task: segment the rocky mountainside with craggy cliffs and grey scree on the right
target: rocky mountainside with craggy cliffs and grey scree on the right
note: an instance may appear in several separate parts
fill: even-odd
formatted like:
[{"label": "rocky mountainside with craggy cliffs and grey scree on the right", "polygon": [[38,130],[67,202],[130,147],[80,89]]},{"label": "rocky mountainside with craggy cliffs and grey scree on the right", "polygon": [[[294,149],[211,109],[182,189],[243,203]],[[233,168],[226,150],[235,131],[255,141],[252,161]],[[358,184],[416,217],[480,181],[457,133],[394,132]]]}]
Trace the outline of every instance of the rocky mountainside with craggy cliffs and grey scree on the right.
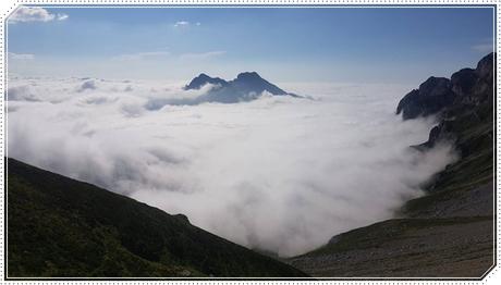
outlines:
[{"label": "rocky mountainside with craggy cliffs and grey scree on the right", "polygon": [[480,277],[487,272],[494,262],[493,63],[489,54],[451,80],[430,77],[400,102],[404,120],[440,117],[419,149],[449,140],[461,157],[430,182],[426,196],[408,201],[401,219],[334,236],[290,263],[314,276]]}]

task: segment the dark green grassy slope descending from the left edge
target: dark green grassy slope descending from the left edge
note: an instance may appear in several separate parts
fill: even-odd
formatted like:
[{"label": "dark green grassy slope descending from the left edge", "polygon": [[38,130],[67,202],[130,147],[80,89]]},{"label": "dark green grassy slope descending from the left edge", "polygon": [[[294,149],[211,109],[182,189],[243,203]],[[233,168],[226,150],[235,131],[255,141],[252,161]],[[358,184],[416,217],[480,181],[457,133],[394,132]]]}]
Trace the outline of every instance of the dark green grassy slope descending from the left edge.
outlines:
[{"label": "dark green grassy slope descending from the left edge", "polygon": [[8,276],[305,276],[166,212],[8,159]]}]

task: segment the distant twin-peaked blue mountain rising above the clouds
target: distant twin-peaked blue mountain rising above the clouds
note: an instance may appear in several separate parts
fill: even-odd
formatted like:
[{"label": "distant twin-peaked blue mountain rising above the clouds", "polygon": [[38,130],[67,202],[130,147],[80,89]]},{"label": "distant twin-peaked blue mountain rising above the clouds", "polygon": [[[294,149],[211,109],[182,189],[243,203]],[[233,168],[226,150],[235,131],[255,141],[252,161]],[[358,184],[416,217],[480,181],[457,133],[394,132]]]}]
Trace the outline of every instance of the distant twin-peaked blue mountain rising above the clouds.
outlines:
[{"label": "distant twin-peaked blue mountain rising above the clouds", "polygon": [[296,97],[295,95],[289,94],[280,89],[278,86],[264,79],[256,72],[241,73],[236,76],[235,79],[230,82],[219,77],[210,77],[203,73],[195,77],[190,84],[187,84],[184,89],[200,89],[207,84],[213,85],[213,87],[207,91],[207,94],[193,100],[192,103],[237,103],[257,99],[264,91],[269,92],[272,96],[290,95]]}]

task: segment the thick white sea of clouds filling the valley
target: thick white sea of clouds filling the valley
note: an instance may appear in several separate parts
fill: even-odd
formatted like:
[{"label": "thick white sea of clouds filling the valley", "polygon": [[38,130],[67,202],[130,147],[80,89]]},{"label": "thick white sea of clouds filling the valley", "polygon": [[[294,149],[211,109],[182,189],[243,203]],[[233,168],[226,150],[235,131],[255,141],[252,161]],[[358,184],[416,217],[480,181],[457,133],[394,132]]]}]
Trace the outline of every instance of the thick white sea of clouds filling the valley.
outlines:
[{"label": "thick white sea of clouds filling the valley", "polygon": [[447,145],[410,148],[435,122],[394,115],[407,86],[284,84],[310,98],[169,104],[212,88],[182,86],[12,76],[8,156],[284,257],[391,218],[455,159]]}]

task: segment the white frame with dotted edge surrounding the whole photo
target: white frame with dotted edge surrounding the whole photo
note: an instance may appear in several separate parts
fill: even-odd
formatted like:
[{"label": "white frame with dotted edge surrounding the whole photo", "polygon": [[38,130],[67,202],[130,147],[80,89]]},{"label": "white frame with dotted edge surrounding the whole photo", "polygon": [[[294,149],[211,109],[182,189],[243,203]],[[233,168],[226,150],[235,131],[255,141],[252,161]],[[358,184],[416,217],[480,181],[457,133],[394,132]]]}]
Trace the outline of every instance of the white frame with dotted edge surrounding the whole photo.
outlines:
[{"label": "white frame with dotted edge surrounding the whole photo", "polygon": [[[32,5],[32,7],[50,7],[50,8],[267,8],[267,7],[279,7],[279,8],[492,8],[493,12],[493,39],[494,39],[494,51],[499,54],[501,47],[499,40],[501,38],[500,23],[501,23],[501,0],[0,0],[0,92],[5,95],[8,89],[8,51],[7,51],[7,36],[8,25],[7,20],[19,7]],[[15,284],[88,284],[100,283],[100,284],[131,284],[138,285],[139,283],[148,284],[161,284],[161,282],[170,282],[171,284],[179,285],[194,285],[194,284],[228,284],[228,285],[240,285],[244,283],[254,284],[379,284],[390,285],[391,283],[398,282],[403,285],[411,284],[496,284],[501,282],[501,273],[499,272],[500,262],[500,225],[501,222],[498,216],[499,209],[501,209],[501,200],[498,197],[498,190],[501,183],[498,181],[498,176],[501,174],[500,165],[501,162],[498,159],[501,144],[500,129],[500,117],[501,113],[501,100],[498,95],[501,91],[500,83],[501,78],[499,73],[501,72],[501,65],[499,61],[496,62],[496,84],[497,84],[497,96],[496,98],[496,136],[493,137],[496,144],[496,156],[494,156],[494,250],[493,250],[493,265],[480,277],[480,278],[438,278],[438,277],[315,277],[313,278],[288,278],[288,277],[9,277],[7,276],[7,162],[0,163],[0,211],[3,213],[0,215],[0,282],[2,283],[15,283]],[[0,156],[7,158],[7,102],[4,96],[0,99]],[[499,283],[498,283],[499,284]]]}]

